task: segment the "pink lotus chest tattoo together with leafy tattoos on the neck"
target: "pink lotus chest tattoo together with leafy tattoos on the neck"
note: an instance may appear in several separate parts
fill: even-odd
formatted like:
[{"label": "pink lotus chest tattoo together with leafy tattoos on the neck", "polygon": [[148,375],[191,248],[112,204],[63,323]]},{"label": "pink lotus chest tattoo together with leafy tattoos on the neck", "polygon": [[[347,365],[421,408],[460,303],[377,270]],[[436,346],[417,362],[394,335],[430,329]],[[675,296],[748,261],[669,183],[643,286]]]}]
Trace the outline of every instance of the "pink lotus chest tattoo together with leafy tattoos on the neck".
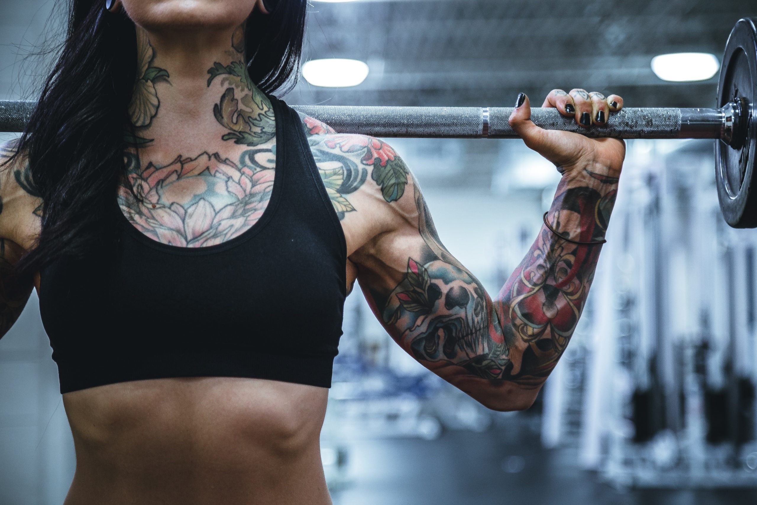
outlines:
[{"label": "pink lotus chest tattoo together with leafy tattoos on the neck", "polygon": [[[142,76],[129,114],[132,126],[146,131],[160,108],[154,83],[169,79],[169,73],[152,66],[154,50],[143,30],[138,33]],[[251,82],[242,61],[243,35],[240,27],[232,36],[232,61],[214,62],[207,71],[208,87],[216,79],[226,86],[213,107],[213,116],[228,130],[222,139],[249,148],[238,161],[201,152],[143,167],[139,149],[153,141],[127,134],[130,149],[124,154],[126,176],[119,204],[132,225],[157,242],[187,248],[217,245],[251,228],[268,205],[276,169],[276,123],[271,102]]]}]

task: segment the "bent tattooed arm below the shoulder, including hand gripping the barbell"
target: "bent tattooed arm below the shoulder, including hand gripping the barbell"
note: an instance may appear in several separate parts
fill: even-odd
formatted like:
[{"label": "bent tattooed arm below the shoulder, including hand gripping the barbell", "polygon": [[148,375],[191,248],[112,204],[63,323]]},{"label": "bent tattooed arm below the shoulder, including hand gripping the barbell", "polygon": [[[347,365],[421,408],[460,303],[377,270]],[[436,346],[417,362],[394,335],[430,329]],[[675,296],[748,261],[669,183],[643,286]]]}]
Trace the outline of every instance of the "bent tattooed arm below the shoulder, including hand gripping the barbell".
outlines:
[{"label": "bent tattooed arm below the shoulder, including hand gripping the barbell", "polygon": [[[594,119],[600,117],[597,108],[605,118],[621,108],[616,95],[586,94],[583,99],[581,92],[556,90],[544,106],[575,114],[579,121],[587,110]],[[542,226],[494,299],[442,245],[413,176],[407,177],[401,196],[378,212],[384,215],[376,220],[389,225],[350,256],[363,293],[394,340],[428,369],[494,410],[531,406],[565,351],[601,249],[599,244],[575,242],[603,238],[625,156],[622,141],[543,130],[529,117],[526,99],[510,122],[530,148],[562,173],[547,213],[559,235]],[[391,161],[402,163],[396,155]],[[385,169],[377,165],[372,170]],[[397,170],[409,174],[403,165]],[[382,178],[373,173],[372,179],[380,183]],[[386,191],[383,195],[391,199]]]}]

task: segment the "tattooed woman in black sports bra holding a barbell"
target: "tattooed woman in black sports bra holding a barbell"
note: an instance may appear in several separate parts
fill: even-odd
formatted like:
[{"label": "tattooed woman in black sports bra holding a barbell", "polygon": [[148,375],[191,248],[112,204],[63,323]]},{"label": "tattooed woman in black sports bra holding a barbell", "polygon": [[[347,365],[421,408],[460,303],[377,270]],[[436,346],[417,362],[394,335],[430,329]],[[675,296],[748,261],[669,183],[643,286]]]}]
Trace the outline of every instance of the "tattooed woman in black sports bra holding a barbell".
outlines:
[{"label": "tattooed woman in black sports bra holding a barbell", "polygon": [[[76,445],[66,503],[329,503],[319,458],[344,297],[495,410],[565,350],[621,141],[510,122],[562,173],[497,298],[441,245],[397,154],[269,94],[304,0],[73,0],[64,51],[0,197],[3,332],[32,287]],[[621,98],[555,90],[590,127]],[[547,226],[548,225],[548,226]]]}]

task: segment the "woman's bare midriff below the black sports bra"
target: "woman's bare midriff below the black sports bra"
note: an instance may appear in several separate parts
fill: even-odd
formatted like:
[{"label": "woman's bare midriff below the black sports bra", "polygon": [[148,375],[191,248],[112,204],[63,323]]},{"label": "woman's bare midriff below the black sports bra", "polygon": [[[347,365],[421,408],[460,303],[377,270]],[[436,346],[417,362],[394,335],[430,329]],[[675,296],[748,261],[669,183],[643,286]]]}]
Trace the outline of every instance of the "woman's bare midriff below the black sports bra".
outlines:
[{"label": "woman's bare midriff below the black sports bra", "polygon": [[331,503],[319,447],[327,397],[227,377],[66,393],[76,473],[64,505]]}]

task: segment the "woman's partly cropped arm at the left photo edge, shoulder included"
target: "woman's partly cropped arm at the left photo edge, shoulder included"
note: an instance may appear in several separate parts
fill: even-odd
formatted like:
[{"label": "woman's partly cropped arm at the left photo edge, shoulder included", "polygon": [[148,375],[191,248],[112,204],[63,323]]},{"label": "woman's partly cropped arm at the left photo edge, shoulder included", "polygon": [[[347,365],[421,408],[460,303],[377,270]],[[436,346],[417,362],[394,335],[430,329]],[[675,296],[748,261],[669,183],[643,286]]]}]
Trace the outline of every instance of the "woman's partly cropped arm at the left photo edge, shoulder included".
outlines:
[{"label": "woman's partly cropped arm at the left photo edge, shoulder included", "polygon": [[0,145],[0,338],[16,322],[33,289],[32,279],[13,275],[13,265],[24,251],[7,237],[17,234],[16,214],[41,209],[28,164],[20,157],[11,159],[13,154],[12,143]]}]

